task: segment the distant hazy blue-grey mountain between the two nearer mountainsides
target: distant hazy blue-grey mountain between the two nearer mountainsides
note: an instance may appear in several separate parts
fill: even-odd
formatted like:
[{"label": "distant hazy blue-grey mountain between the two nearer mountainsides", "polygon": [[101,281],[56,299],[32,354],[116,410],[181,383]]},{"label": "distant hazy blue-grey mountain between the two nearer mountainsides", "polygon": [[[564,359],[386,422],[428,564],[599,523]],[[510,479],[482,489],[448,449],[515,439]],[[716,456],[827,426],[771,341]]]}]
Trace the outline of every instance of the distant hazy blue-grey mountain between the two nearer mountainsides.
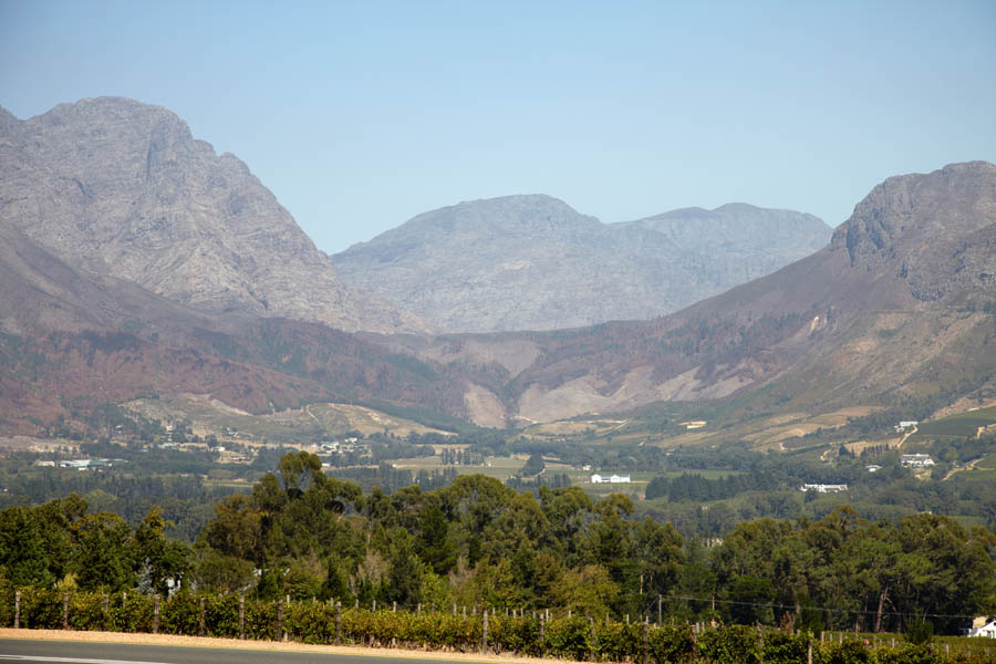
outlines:
[{"label": "distant hazy blue-grey mountain between the two nearer mountainsides", "polygon": [[733,204],[601,224],[549,196],[425,212],[333,257],[342,277],[453,331],[650,319],[823,247],[812,215]]}]

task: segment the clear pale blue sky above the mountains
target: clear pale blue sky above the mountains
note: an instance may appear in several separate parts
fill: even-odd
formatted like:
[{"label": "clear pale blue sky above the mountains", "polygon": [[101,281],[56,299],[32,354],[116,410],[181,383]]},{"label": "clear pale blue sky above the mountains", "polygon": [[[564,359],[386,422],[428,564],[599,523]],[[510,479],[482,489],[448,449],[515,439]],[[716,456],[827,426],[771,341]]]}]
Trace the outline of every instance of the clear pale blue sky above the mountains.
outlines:
[{"label": "clear pale blue sky above the mountains", "polygon": [[165,106],[329,253],[461,200],[844,221],[996,162],[996,2],[0,0],[0,105]]}]

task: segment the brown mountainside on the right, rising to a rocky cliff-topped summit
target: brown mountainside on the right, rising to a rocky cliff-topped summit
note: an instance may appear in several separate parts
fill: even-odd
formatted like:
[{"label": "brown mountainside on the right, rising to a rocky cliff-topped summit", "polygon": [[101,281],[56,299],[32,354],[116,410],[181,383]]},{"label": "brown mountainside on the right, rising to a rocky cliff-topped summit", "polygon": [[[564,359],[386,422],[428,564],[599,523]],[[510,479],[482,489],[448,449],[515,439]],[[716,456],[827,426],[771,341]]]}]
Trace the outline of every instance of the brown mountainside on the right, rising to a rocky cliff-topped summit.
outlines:
[{"label": "brown mountainside on the right, rising to a rocky cliff-topped summit", "polygon": [[417,352],[474,365],[520,344],[499,361],[522,422],[761,386],[771,403],[812,408],[957,393],[996,375],[994,242],[996,166],[955,164],[885,180],[830,246],[678,313]]}]

